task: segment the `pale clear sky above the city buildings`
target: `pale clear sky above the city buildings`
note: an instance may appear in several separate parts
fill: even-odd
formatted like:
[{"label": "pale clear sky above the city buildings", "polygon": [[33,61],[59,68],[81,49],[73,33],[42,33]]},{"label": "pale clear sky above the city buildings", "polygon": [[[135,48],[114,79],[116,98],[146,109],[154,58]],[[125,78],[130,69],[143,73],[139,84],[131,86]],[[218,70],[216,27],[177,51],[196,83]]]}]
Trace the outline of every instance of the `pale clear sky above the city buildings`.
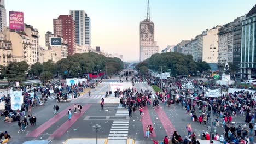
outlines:
[{"label": "pale clear sky above the city buildings", "polygon": [[[150,19],[160,51],[167,45],[191,39],[205,29],[232,22],[245,15],[255,0],[150,0]],[[5,0],[9,11],[24,12],[24,22],[39,31],[45,46],[46,31],[53,32],[53,19],[69,10],[85,10],[91,19],[91,45],[123,55],[124,61],[139,60],[139,22],[147,15],[147,0]]]}]

